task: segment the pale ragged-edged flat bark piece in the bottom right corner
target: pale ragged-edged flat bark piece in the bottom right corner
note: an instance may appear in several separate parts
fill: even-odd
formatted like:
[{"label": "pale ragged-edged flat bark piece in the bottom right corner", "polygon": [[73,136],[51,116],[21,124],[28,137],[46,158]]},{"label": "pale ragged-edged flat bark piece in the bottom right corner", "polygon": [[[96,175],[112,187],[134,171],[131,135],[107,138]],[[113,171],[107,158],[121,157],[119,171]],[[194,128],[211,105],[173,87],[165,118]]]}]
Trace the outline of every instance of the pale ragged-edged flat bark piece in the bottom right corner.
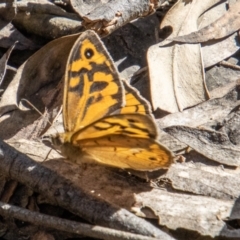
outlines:
[{"label": "pale ragged-edged flat bark piece in the bottom right corner", "polygon": [[221,235],[224,220],[231,216],[234,204],[239,207],[234,200],[170,193],[160,189],[139,193],[136,204],[135,211],[151,209],[159,218],[159,224],[170,229],[184,228],[211,237]]}]

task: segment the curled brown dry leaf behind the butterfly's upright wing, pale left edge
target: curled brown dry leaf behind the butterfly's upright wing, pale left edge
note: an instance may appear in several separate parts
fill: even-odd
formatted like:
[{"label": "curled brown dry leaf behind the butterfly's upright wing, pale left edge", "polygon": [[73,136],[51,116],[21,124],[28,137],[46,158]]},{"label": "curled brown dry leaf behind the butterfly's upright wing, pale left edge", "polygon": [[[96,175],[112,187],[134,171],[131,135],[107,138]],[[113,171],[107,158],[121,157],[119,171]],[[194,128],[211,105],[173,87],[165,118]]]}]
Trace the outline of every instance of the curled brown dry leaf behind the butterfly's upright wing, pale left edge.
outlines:
[{"label": "curled brown dry leaf behind the butterfly's upright wing, pale left edge", "polygon": [[[16,109],[22,98],[26,98],[35,107],[43,110],[46,106],[43,104],[43,98],[52,90],[51,84],[55,84],[56,87],[62,79],[68,53],[78,36],[62,37],[48,43],[19,67],[13,81],[3,93],[0,116]],[[41,93],[39,89],[42,90]]]}]

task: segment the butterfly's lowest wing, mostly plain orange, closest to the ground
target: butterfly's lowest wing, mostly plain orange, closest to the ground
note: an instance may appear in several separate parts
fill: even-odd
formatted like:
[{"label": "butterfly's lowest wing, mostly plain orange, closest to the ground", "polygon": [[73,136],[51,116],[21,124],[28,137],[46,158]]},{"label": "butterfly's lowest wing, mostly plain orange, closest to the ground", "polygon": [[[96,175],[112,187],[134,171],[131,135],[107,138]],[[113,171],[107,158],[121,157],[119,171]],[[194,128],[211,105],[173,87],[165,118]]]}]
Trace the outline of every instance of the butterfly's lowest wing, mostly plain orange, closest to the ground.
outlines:
[{"label": "butterfly's lowest wing, mostly plain orange, closest to the ground", "polygon": [[112,167],[152,171],[171,164],[171,152],[154,139],[109,135],[79,144],[83,152]]}]

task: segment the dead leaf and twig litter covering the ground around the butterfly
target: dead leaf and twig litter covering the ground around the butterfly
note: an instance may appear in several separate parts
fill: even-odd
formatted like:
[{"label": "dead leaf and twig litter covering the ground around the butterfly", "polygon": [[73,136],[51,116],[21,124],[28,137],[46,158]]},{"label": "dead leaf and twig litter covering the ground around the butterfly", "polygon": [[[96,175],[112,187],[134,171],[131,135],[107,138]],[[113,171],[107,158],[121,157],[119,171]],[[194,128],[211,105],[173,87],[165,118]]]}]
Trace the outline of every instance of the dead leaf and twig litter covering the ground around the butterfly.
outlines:
[{"label": "dead leaf and twig litter covering the ground around the butterfly", "polygon": [[[237,0],[0,3],[1,238],[239,239],[239,9]],[[168,171],[78,166],[41,142],[63,131],[65,65],[86,29],[151,102],[159,141],[180,156]]]}]

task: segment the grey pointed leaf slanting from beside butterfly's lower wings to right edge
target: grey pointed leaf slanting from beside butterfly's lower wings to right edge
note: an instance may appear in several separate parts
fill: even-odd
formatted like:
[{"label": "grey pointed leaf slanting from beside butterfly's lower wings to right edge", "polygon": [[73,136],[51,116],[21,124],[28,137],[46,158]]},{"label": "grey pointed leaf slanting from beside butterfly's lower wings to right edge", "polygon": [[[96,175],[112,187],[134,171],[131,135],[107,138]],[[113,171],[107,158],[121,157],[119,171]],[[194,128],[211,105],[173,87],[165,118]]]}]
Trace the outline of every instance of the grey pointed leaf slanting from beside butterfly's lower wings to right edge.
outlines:
[{"label": "grey pointed leaf slanting from beside butterfly's lower wings to right edge", "polygon": [[164,131],[213,161],[240,166],[240,147],[233,145],[224,133],[186,126],[167,127]]}]

